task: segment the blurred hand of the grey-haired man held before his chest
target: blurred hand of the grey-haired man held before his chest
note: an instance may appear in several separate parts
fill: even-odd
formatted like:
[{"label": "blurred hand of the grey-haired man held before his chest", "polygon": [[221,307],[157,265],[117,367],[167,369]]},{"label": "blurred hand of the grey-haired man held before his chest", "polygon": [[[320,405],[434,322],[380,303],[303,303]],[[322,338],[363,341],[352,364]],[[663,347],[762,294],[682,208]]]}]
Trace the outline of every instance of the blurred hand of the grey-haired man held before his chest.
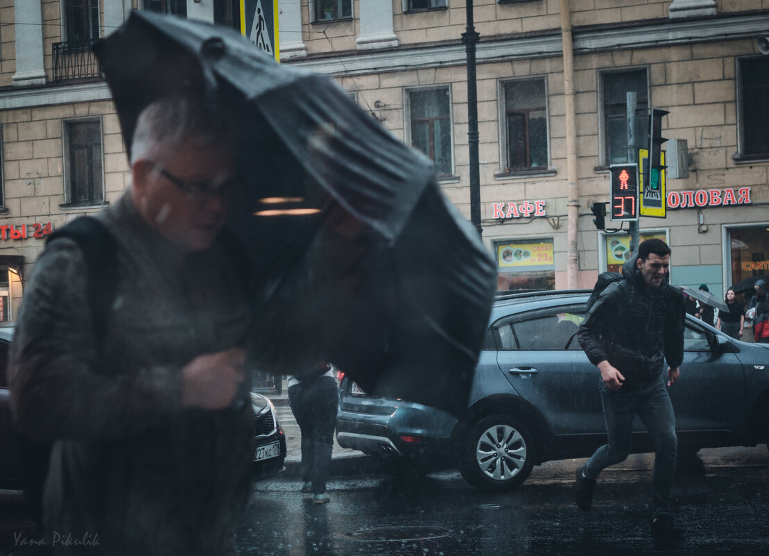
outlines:
[{"label": "blurred hand of the grey-haired man held before his chest", "polygon": [[228,407],[245,378],[245,351],[198,355],[181,369],[181,405],[218,410]]}]

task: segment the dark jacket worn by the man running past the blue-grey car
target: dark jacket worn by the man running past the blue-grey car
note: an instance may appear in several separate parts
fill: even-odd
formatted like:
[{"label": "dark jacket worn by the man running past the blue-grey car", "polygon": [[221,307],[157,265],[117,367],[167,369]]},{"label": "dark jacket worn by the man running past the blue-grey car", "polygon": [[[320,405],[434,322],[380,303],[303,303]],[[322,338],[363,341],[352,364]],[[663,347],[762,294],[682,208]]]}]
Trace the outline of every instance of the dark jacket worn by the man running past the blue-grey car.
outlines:
[{"label": "dark jacket worn by the man running past the blue-grey car", "polygon": [[578,335],[591,363],[608,360],[626,385],[654,380],[664,360],[673,368],[684,360],[684,296],[667,278],[650,293],[636,260],[622,266],[624,280],[601,292]]}]

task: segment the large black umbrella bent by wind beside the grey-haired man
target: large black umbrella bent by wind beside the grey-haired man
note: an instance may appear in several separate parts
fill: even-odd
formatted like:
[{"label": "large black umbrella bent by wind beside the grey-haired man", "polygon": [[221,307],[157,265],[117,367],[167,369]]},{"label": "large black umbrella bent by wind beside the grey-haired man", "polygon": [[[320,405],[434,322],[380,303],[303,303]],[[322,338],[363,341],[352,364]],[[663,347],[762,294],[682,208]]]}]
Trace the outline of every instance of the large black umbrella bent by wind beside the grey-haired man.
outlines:
[{"label": "large black umbrella bent by wind beside the grey-haired man", "polygon": [[95,52],[129,151],[155,99],[238,113],[246,179],[228,223],[258,269],[261,369],[330,360],[371,394],[465,409],[494,264],[431,161],[333,79],[278,65],[228,28],[131,12]]}]

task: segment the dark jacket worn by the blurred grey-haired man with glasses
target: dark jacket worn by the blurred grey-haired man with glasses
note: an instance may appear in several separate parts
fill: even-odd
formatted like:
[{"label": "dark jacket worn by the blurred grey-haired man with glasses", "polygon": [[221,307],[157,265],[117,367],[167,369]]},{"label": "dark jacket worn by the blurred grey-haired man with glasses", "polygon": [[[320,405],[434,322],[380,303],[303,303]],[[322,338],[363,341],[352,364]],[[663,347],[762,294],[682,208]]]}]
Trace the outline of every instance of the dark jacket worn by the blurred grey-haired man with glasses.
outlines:
[{"label": "dark jacket worn by the blurred grey-haired man with glasses", "polygon": [[55,553],[234,554],[251,494],[253,412],[182,407],[181,368],[239,345],[251,322],[245,288],[221,247],[180,253],[130,193],[98,217],[118,242],[120,276],[102,357],[85,260],[68,238],[35,265],[11,350],[18,427],[55,440],[48,533],[98,534],[98,545],[60,543]]}]

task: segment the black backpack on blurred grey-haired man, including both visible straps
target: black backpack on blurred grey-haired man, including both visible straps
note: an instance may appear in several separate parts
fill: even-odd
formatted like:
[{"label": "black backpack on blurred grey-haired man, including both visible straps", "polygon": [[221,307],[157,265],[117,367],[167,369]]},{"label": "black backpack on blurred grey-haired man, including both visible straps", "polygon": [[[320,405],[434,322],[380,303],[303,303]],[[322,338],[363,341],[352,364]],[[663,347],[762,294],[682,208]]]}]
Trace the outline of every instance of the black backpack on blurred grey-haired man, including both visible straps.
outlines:
[{"label": "black backpack on blurred grey-haired man, including both visible straps", "polygon": [[[92,216],[72,220],[48,236],[45,244],[60,237],[74,240],[85,258],[88,310],[94,323],[96,349],[101,352],[108,330],[109,310],[118,290],[118,244],[104,223]],[[221,229],[217,243],[248,286],[251,265],[235,233],[228,228]],[[21,434],[17,435],[17,442],[25,504],[30,517],[42,524],[43,490],[53,443],[30,440]]]}]

